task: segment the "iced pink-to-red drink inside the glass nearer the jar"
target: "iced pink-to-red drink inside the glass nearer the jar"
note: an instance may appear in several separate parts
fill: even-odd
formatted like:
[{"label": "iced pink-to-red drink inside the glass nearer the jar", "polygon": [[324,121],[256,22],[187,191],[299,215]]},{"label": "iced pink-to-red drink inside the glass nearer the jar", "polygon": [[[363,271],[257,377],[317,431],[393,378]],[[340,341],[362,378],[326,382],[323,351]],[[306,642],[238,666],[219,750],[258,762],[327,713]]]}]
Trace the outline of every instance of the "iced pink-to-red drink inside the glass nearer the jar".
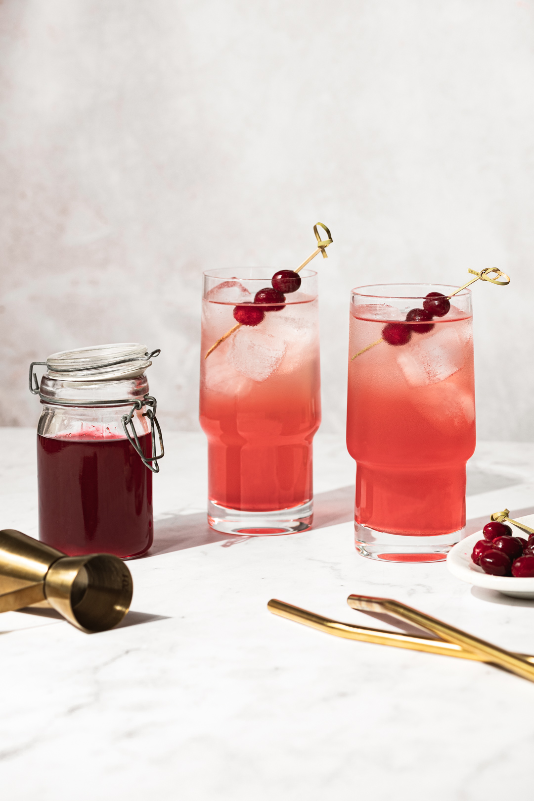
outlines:
[{"label": "iced pink-to-red drink inside the glass nearer the jar", "polygon": [[[243,338],[259,337],[258,351],[247,366],[241,361],[241,355],[247,358],[246,349],[233,350],[238,337],[202,360],[200,425],[208,441],[208,494],[226,509],[270,512],[313,497],[312,440],[321,419],[316,313],[316,301],[298,304],[271,312],[257,331],[238,332]],[[204,353],[235,320],[231,305],[207,301],[203,315]],[[294,331],[296,315],[300,327]],[[263,330],[269,347],[285,351],[268,377],[256,375],[253,380],[247,370],[256,360],[261,364]]]}]

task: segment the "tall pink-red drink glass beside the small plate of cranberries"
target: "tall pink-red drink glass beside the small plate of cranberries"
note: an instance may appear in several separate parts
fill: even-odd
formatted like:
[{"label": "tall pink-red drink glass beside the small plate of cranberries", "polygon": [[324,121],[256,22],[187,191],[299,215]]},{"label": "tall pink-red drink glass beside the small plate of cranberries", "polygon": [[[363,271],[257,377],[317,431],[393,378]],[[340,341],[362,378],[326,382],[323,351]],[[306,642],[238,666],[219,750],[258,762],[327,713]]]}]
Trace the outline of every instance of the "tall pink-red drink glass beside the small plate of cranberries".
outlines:
[{"label": "tall pink-red drink glass beside the small plate of cranberries", "polygon": [[355,545],[363,556],[440,561],[462,537],[465,465],[475,450],[471,292],[452,297],[432,322],[406,321],[429,292],[454,291],[352,290],[347,449],[357,465]]}]

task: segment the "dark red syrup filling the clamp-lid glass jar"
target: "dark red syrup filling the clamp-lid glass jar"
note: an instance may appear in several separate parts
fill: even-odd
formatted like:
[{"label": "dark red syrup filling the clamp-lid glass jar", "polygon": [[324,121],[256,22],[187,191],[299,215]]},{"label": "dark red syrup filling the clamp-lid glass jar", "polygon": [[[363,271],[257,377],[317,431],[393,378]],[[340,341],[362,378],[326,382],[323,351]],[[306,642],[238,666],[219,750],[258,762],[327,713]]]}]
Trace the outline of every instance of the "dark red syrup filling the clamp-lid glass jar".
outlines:
[{"label": "dark red syrup filling the clamp-lid glass jar", "polygon": [[[139,437],[151,456],[151,436]],[[39,539],[80,556],[145,553],[153,541],[152,473],[125,438],[37,437]]]}]

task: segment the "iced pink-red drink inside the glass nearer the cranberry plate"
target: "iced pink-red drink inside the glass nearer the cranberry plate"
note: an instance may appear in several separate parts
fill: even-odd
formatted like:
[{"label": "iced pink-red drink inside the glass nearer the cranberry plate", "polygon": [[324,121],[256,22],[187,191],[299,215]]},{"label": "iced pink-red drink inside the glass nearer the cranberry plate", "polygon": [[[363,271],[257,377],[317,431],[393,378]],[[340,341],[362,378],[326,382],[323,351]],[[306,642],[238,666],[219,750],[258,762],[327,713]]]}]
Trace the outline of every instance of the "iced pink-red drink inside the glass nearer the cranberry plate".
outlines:
[{"label": "iced pink-red drink inside the glass nearer the cranberry plate", "polygon": [[476,440],[472,320],[452,308],[432,332],[414,332],[399,347],[381,342],[351,360],[379,339],[384,322],[351,309],[347,449],[357,462],[355,520],[415,537],[458,531]]}]

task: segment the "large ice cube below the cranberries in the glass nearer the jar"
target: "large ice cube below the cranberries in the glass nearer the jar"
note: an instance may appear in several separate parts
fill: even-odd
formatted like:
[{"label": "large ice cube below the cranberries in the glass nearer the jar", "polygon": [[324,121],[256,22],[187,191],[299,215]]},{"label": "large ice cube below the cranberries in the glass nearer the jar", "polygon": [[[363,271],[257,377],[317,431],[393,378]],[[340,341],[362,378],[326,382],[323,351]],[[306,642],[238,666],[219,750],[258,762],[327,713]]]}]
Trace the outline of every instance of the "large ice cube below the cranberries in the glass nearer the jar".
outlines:
[{"label": "large ice cube below the cranberries in the glass nearer the jar", "polygon": [[285,341],[269,333],[263,324],[243,325],[231,337],[227,360],[243,376],[264,381],[279,366],[285,352]]}]

